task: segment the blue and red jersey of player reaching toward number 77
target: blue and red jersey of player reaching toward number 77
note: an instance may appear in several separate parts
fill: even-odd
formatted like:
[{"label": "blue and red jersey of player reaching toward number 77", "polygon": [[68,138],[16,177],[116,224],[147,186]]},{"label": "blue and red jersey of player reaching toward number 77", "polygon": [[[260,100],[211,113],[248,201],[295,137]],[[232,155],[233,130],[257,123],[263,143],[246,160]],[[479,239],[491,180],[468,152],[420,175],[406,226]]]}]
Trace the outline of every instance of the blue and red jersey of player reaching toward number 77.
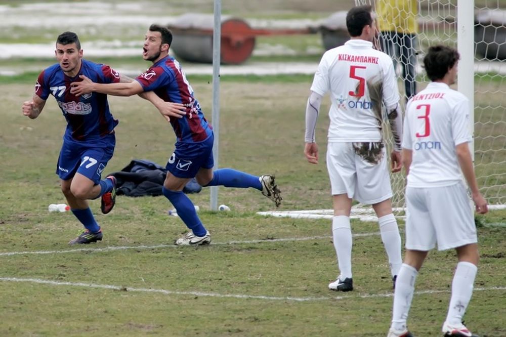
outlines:
[{"label": "blue and red jersey of player reaching toward number 77", "polygon": [[166,56],[153,64],[136,80],[144,91],[153,91],[165,102],[182,103],[186,106],[183,118],[171,118],[171,125],[179,142],[199,143],[213,133],[193,96],[193,89],[179,62]]}]

